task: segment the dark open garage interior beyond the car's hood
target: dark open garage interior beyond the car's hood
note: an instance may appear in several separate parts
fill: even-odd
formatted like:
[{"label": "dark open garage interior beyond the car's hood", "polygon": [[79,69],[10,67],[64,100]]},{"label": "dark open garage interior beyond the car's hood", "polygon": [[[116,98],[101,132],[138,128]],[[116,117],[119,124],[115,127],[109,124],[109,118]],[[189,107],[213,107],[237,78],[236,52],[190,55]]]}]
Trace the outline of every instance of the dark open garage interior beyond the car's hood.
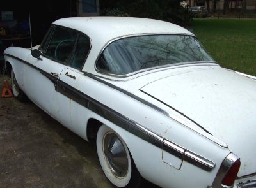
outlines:
[{"label": "dark open garage interior beyond the car's hood", "polygon": [[0,74],[5,48],[29,48],[31,39],[33,46],[40,44],[51,23],[59,18],[93,15],[99,15],[99,0],[0,1]]}]

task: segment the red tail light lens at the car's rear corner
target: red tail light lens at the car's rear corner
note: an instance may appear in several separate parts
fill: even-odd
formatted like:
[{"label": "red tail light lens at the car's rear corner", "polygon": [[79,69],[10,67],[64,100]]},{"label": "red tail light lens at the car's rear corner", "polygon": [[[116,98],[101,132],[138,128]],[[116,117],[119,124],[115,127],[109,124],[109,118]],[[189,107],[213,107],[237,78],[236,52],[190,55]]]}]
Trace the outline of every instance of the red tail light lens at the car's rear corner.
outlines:
[{"label": "red tail light lens at the car's rear corner", "polygon": [[240,160],[238,159],[228,170],[227,174],[222,180],[223,185],[232,186],[234,184],[234,181],[236,179],[237,173],[240,168]]}]

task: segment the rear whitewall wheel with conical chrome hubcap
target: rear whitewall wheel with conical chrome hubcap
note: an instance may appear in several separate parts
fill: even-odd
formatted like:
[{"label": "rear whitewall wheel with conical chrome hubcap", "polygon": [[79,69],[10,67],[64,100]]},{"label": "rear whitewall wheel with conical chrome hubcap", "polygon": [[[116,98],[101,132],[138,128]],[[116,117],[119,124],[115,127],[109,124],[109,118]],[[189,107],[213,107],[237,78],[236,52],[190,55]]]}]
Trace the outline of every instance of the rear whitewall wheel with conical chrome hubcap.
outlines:
[{"label": "rear whitewall wheel with conical chrome hubcap", "polygon": [[97,133],[97,153],[102,170],[115,187],[139,187],[141,175],[124,140],[106,125]]}]

